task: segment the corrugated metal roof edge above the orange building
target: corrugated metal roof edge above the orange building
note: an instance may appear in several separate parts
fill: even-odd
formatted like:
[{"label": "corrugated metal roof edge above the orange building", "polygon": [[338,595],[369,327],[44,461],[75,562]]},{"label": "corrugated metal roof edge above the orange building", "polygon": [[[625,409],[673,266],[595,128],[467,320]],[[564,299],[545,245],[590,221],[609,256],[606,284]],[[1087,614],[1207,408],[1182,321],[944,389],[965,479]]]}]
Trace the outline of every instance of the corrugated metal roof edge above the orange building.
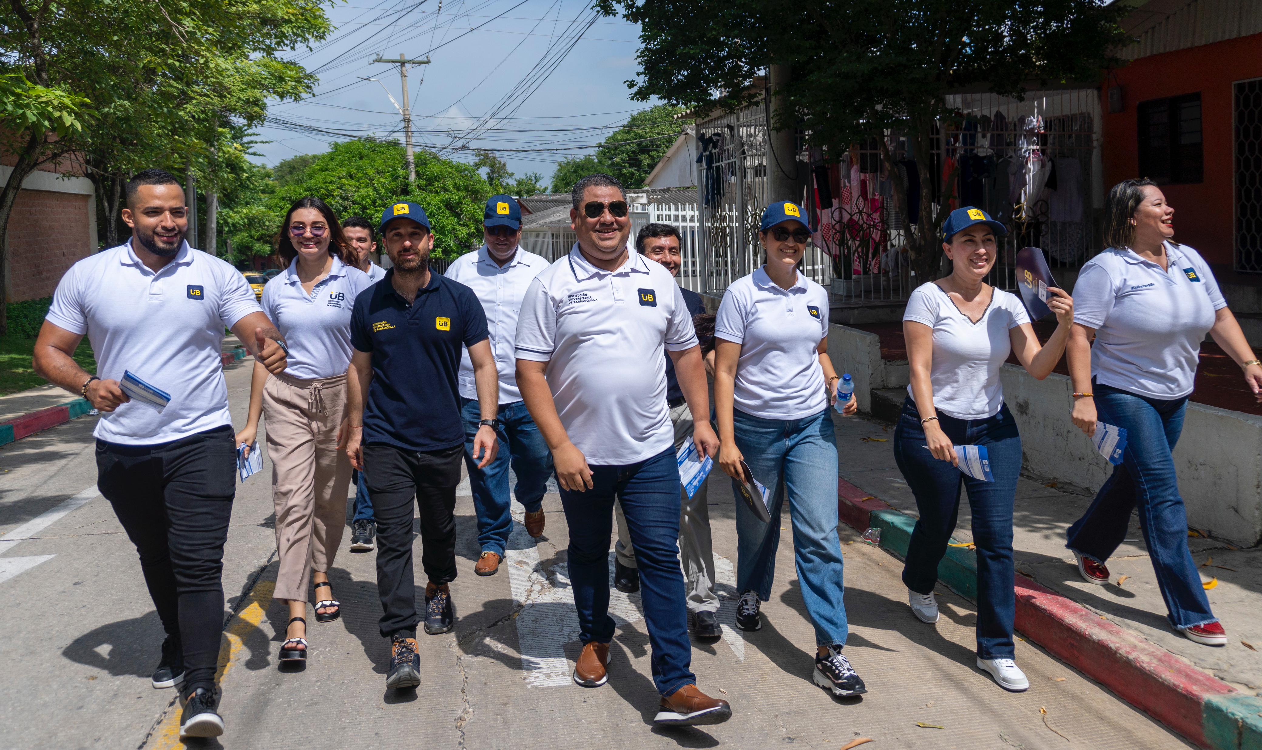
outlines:
[{"label": "corrugated metal roof edge above the orange building", "polygon": [[1123,59],[1188,49],[1227,39],[1262,34],[1258,0],[1150,0],[1123,21],[1138,42],[1121,52]]}]

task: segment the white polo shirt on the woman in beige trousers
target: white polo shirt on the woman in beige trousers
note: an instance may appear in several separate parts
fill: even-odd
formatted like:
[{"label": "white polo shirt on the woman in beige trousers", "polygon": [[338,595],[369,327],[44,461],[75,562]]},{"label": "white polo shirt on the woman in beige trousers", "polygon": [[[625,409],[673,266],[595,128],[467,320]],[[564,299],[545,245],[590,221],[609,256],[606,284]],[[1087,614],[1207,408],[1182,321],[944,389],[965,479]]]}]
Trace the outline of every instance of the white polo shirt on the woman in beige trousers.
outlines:
[{"label": "white polo shirt on the woman in beige trousers", "polygon": [[262,312],[285,337],[288,375],[303,380],[346,375],[351,364],[351,309],[360,292],[371,285],[369,274],[337,258],[309,295],[298,278],[297,258],[268,282]]}]

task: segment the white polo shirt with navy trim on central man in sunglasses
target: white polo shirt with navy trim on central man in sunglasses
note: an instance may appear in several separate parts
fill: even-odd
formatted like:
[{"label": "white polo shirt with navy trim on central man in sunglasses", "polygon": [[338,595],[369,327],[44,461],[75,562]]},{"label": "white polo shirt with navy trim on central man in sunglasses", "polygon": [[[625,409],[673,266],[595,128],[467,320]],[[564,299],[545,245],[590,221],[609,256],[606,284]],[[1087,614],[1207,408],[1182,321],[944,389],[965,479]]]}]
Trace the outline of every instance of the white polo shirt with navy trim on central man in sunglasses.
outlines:
[{"label": "white polo shirt with navy trim on central man in sunglasses", "polygon": [[579,253],[535,277],[517,321],[517,359],[548,362],[569,439],[592,466],[626,466],[675,444],[665,350],[697,346],[679,285],[660,263],[628,253],[616,271]]}]

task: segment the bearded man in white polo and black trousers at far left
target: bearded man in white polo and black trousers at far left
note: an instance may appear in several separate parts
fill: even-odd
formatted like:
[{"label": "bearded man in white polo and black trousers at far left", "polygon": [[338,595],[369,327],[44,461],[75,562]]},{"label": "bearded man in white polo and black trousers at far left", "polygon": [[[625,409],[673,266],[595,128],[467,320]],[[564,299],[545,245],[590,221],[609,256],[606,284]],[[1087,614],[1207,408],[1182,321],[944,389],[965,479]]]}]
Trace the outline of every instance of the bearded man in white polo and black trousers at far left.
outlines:
[{"label": "bearded man in white polo and black trousers at far left", "polygon": [[[245,277],[184,241],[184,191],[173,174],[133,177],[122,220],[131,239],[80,260],[57,285],[34,365],[103,413],[95,431],[97,487],[140,553],[167,631],[153,686],[183,682],[180,736],[213,737],[223,732],[215,668],[236,495],[223,328],[271,372],[285,369],[286,356]],[[100,378],[71,357],[85,335]],[[125,372],[169,402],[159,408],[130,398],[120,385]]]}]

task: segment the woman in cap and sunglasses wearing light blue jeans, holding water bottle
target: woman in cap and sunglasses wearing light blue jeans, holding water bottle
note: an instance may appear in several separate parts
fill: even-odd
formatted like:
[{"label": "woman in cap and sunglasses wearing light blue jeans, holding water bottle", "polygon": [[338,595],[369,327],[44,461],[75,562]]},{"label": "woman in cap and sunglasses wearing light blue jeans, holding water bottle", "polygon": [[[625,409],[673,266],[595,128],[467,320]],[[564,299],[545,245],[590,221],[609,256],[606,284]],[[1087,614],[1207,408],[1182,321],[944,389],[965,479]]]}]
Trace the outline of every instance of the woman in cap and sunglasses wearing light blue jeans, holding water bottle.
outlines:
[{"label": "woman in cap and sunglasses wearing light blue jeans, holding water bottle", "polygon": [[[798,580],[815,626],[813,679],[835,696],[857,696],[867,688],[842,655],[848,625],[832,414],[839,376],[828,357],[828,292],[798,271],[810,239],[800,207],[767,206],[758,239],[766,263],[727,288],[714,319],[719,466],[737,496],[746,467],[771,492],[771,523],[736,504],[736,622],[762,626],[758,606],[771,596],[787,496]],[[843,413],[856,409],[851,399]]]}]

